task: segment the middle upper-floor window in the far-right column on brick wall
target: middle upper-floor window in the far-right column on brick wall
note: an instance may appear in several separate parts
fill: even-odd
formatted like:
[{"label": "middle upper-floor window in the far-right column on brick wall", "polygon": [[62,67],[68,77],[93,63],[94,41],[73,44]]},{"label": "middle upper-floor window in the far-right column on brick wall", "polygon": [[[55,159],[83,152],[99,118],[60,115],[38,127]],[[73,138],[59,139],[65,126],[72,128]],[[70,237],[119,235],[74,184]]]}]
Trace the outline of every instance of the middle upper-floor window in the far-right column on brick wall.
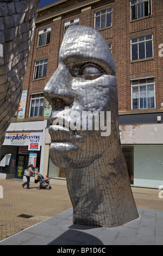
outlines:
[{"label": "middle upper-floor window in the far-right column on brick wall", "polygon": [[153,35],[131,39],[131,60],[153,57]]}]

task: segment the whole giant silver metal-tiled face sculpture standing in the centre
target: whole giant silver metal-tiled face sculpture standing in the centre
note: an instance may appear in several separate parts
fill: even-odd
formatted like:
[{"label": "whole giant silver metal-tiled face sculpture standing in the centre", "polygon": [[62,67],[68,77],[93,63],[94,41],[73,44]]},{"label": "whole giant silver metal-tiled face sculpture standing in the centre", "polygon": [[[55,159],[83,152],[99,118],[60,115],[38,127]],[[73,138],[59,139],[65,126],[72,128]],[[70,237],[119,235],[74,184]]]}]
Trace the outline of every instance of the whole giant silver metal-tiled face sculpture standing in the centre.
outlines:
[{"label": "whole giant silver metal-tiled face sculpture standing in the centre", "polygon": [[[95,29],[68,28],[45,96],[53,107],[49,153],[55,165],[66,168],[73,222],[115,227],[137,218],[118,132],[114,60]],[[83,113],[95,112],[89,129]],[[109,112],[111,132],[103,133],[102,127],[109,129]]]}]

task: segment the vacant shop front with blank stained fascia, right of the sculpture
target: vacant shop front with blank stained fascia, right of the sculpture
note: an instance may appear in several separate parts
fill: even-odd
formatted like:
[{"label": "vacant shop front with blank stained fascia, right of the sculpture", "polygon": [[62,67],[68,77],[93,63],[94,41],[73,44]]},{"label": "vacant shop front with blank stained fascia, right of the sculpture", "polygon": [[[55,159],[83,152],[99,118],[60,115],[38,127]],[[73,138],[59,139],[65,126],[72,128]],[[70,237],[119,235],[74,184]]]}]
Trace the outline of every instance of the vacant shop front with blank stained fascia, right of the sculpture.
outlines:
[{"label": "vacant shop front with blank stained fascia, right of the sculpture", "polygon": [[133,187],[163,185],[163,124],[121,125],[121,144]]}]

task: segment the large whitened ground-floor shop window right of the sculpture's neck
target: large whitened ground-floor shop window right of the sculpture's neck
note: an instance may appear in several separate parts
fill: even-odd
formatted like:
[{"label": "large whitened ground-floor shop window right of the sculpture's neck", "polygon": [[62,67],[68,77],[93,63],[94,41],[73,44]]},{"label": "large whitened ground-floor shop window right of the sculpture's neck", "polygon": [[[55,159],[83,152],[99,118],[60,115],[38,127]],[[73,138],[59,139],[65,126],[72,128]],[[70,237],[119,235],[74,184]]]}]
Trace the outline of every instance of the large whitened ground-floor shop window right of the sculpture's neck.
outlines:
[{"label": "large whitened ground-floor shop window right of the sculpture's neck", "polygon": [[122,145],[122,150],[133,186],[158,188],[163,184],[163,145]]}]

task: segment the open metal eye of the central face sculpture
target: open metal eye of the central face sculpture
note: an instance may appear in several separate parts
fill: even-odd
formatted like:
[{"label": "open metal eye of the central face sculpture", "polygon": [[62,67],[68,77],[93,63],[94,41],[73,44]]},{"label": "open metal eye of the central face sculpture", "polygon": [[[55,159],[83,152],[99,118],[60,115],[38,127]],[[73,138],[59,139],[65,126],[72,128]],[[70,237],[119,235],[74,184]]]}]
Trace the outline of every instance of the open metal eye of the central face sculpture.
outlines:
[{"label": "open metal eye of the central face sculpture", "polygon": [[94,80],[99,76],[102,76],[104,71],[93,64],[86,64],[82,67],[82,69],[80,69],[79,74],[86,80]]}]

